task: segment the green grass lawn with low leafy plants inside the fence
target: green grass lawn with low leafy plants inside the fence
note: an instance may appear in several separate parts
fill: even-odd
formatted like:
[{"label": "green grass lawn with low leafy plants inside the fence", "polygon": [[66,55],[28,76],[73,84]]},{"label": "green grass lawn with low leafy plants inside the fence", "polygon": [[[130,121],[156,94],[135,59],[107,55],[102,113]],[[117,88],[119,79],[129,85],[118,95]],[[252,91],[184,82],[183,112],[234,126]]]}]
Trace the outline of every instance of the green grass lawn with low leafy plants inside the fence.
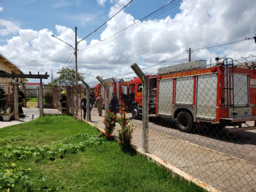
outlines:
[{"label": "green grass lawn with low leafy plants inside the fence", "polygon": [[97,135],[71,116],[40,116],[0,129],[0,191],[205,191]]}]

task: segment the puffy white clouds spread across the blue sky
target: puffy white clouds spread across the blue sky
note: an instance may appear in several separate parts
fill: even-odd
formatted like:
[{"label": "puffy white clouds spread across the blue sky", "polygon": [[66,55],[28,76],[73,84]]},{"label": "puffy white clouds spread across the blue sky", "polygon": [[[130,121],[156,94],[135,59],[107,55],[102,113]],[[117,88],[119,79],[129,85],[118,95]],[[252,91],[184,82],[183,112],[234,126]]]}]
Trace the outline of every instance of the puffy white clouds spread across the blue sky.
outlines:
[{"label": "puffy white clouds spread across the blue sky", "polygon": [[[98,0],[97,2],[104,5],[105,0]],[[117,4],[111,7],[109,11],[109,17],[118,12],[129,0],[116,2]],[[185,1],[180,6],[181,12],[175,17],[154,19],[147,23],[144,21],[140,23],[143,24],[140,27],[90,52],[84,52],[83,49],[95,45],[99,40],[81,41],[78,44],[78,71],[86,73],[86,82],[97,81],[95,78],[97,75],[111,77],[130,73],[125,77],[135,76],[130,68],[130,65],[134,62],[142,67],[147,67],[184,52],[190,47],[193,49],[254,36],[256,23],[251,15],[254,15],[255,7],[255,0],[246,2],[240,0]],[[86,16],[84,17],[86,18]],[[0,24],[3,21],[0,20]],[[109,38],[136,21],[124,9],[107,23],[106,28],[100,34],[100,40]],[[5,23],[7,22],[9,21],[5,21]],[[9,26],[11,24],[9,22]],[[7,24],[5,26],[7,27]],[[6,28],[6,30],[11,28]],[[18,27],[8,33],[0,30],[0,34],[15,33],[18,30]],[[75,32],[73,29],[56,25],[56,31],[58,38],[74,47]],[[14,64],[17,64],[24,73],[40,71],[41,74],[44,74],[47,71],[50,74],[50,70],[52,70],[53,74],[56,74],[56,71],[62,66],[74,66],[73,48],[50,36],[51,34],[52,31],[48,29],[40,31],[20,29],[19,35],[7,40],[7,44],[0,47],[0,53]],[[226,52],[254,50],[255,53],[255,49],[255,43],[248,41],[230,46]],[[194,52],[192,59],[197,57],[211,59],[216,56],[216,51]],[[218,51],[223,51],[223,49]],[[217,55],[219,54],[218,52]],[[70,58],[69,55],[71,55]],[[241,55],[236,53],[232,56],[240,57]],[[187,58],[187,55],[185,55],[185,57],[172,62],[178,64],[186,61]],[[159,66],[172,64],[172,62],[156,65],[145,70],[145,72],[156,72]],[[50,81],[50,78],[48,81]]]}]

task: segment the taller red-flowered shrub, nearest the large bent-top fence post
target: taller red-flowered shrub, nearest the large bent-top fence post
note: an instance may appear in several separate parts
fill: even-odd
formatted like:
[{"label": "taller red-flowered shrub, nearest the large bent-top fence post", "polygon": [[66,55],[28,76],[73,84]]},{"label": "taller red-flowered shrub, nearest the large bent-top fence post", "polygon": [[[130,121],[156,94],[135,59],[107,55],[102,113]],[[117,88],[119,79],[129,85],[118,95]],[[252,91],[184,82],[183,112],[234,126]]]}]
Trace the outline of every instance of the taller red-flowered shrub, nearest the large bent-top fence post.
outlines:
[{"label": "taller red-flowered shrub, nearest the large bent-top fence post", "polygon": [[127,112],[125,111],[125,108],[120,106],[119,113],[121,117],[119,117],[117,121],[120,124],[121,129],[118,130],[119,132],[118,143],[124,152],[130,152],[130,150],[132,149],[131,147],[131,140],[133,139],[132,134],[133,134],[134,127],[136,126],[134,126],[133,123],[128,125],[130,120],[126,117]]}]

